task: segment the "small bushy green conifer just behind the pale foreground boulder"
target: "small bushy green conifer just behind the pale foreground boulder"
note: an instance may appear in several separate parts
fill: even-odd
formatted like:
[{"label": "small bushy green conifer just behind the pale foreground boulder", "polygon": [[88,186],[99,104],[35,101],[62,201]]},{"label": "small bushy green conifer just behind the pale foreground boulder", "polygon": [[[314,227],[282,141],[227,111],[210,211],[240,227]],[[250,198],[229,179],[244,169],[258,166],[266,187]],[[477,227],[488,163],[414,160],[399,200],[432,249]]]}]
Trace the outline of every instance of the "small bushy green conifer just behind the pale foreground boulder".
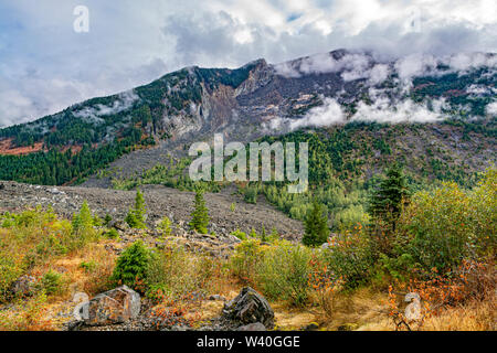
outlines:
[{"label": "small bushy green conifer just behind the pale foreground boulder", "polygon": [[141,240],[134,243],[117,258],[112,279],[142,291],[138,286],[145,280],[151,260],[150,250]]}]

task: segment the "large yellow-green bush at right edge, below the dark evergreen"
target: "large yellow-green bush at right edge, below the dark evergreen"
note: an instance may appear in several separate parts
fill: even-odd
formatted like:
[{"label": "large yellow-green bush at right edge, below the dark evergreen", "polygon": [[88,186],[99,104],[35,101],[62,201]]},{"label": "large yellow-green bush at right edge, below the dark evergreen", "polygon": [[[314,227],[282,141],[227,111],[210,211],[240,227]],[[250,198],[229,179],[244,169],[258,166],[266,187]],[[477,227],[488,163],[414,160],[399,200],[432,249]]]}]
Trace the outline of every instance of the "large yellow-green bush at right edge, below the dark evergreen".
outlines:
[{"label": "large yellow-green bush at right edge, below the dark evergreen", "polygon": [[414,194],[399,218],[394,256],[411,256],[425,272],[450,271],[463,259],[494,256],[496,185],[496,170],[489,169],[473,191],[446,182]]}]

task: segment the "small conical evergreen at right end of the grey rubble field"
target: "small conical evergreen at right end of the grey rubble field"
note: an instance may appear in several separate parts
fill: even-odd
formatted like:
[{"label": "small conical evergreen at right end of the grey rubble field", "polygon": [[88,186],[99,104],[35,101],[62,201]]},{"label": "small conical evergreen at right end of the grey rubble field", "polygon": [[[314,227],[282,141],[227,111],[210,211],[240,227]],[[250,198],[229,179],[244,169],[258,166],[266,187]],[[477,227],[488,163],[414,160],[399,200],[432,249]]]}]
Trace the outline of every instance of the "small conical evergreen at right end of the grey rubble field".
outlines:
[{"label": "small conical evergreen at right end of the grey rubble field", "polygon": [[328,240],[328,215],[325,207],[313,201],[313,207],[304,222],[305,234],[302,243],[307,246],[319,246]]}]

